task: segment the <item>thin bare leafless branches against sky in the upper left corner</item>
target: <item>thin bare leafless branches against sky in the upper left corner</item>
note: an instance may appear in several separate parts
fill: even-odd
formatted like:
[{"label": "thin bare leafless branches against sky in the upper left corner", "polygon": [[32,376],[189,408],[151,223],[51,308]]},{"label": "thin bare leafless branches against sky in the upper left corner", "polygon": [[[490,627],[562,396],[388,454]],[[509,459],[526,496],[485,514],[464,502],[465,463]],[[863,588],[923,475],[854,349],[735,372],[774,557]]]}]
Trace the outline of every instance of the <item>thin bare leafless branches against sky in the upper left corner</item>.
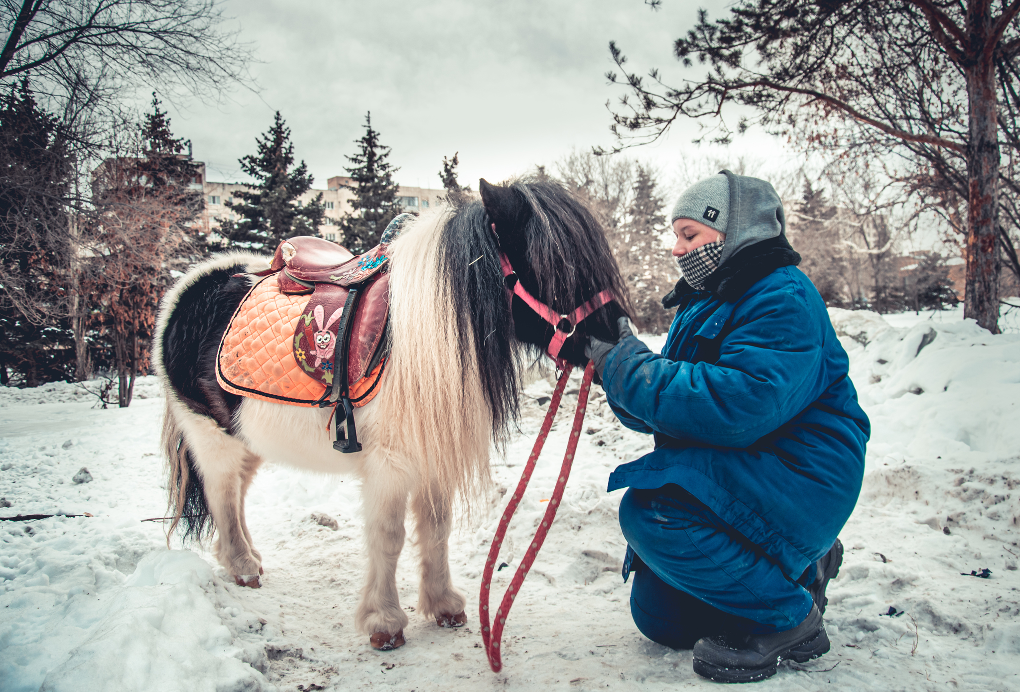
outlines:
[{"label": "thin bare leafless branches against sky in the upper left corner", "polygon": [[215,0],[0,0],[0,84],[31,74],[72,108],[112,105],[139,86],[214,96],[250,59]]}]

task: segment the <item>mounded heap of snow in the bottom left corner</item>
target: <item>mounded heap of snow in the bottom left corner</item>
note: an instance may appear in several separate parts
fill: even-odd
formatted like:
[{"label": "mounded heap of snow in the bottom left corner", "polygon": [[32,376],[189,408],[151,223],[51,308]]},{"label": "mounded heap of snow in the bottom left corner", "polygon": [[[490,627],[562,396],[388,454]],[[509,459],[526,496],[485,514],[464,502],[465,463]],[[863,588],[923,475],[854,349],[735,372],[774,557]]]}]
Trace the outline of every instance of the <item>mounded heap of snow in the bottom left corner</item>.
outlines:
[{"label": "mounded heap of snow in the bottom left corner", "polygon": [[[18,592],[8,606],[29,613],[5,632],[16,642],[5,651],[5,689],[271,689],[255,670],[268,667],[264,643],[244,636],[261,623],[217,587],[200,556],[148,545],[124,579],[113,566],[67,554],[60,543],[70,538],[47,539],[48,528],[32,550],[35,563],[20,561],[7,587]],[[37,671],[45,673],[41,687]]]}]

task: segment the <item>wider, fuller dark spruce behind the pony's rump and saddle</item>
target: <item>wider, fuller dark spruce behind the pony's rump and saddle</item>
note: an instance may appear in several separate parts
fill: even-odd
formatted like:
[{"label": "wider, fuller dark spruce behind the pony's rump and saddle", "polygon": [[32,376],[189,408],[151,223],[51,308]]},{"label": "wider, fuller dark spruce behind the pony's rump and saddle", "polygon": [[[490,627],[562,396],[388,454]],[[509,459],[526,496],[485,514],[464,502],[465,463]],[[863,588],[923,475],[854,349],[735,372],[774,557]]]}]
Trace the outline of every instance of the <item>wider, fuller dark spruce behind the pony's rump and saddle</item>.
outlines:
[{"label": "wider, fuller dark spruce behind the pony's rump and saddle", "polygon": [[218,219],[224,245],[272,251],[294,235],[318,235],[318,227],[325,216],[322,194],[304,206],[298,200],[311,190],[314,178],[304,161],[292,168],[294,144],[291,143],[291,129],[279,111],[269,130],[255,138],[255,143],[257,153],[239,162],[241,170],[255,178],[257,184],[235,193],[240,202],[224,203],[240,217],[237,220]]}]

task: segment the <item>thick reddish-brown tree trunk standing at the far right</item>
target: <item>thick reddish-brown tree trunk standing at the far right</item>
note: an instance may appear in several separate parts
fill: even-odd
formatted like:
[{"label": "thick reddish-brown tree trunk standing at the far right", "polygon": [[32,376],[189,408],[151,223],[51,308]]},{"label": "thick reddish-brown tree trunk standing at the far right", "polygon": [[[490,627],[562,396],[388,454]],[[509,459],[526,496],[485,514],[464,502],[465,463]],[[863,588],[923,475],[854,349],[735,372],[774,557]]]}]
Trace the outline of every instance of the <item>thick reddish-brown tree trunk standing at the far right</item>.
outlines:
[{"label": "thick reddish-brown tree trunk standing at the far right", "polygon": [[991,36],[991,7],[987,0],[969,3],[967,29],[974,63],[966,68],[969,112],[967,144],[967,288],[964,317],[999,333],[999,124],[996,72],[985,43]]}]

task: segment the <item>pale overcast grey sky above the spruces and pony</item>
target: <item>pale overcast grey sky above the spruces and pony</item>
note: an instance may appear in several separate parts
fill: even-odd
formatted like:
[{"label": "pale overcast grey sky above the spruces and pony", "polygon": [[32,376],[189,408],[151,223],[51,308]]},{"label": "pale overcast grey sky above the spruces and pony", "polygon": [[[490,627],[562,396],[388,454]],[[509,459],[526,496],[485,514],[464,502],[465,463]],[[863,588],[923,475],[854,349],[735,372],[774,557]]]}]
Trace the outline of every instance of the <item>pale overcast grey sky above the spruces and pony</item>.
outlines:
[{"label": "pale overcast grey sky above the spruces and pony", "polygon": [[[724,3],[704,4],[717,8],[712,16],[724,11]],[[238,158],[254,153],[255,137],[278,109],[297,158],[324,188],[345,174],[344,156],[354,152],[370,110],[401,168],[399,182],[440,187],[443,157],[459,151],[461,182],[477,189],[478,177],[497,181],[553,164],[572,148],[611,146],[605,103],[624,90],[605,78],[613,68],[609,41],[633,68],[661,67],[677,84],[688,72],[672,57],[672,41],[703,5],[226,0],[225,13],[261,60],[252,65],[260,89],[235,90],[218,104],[169,105],[173,129],[192,140],[209,179],[243,180]],[[632,155],[654,162],[668,183],[682,160],[710,153],[690,145],[698,131],[696,123],[678,123],[667,140]],[[737,140],[728,154],[796,156],[762,135]]]}]

